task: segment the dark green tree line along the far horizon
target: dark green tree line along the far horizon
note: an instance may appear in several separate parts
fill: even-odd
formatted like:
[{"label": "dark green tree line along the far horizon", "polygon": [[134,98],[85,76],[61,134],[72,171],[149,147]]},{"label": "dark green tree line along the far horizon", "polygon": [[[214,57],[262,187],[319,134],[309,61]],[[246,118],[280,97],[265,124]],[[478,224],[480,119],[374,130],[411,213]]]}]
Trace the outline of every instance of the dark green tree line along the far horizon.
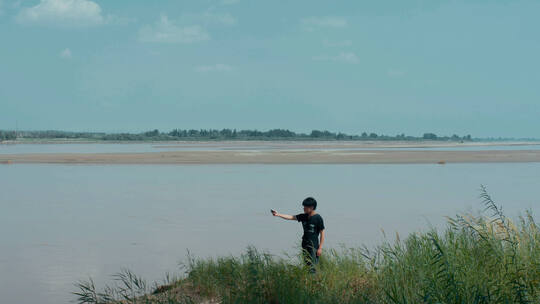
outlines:
[{"label": "dark green tree line along the far horizon", "polygon": [[69,132],[69,131],[2,131],[0,141],[29,139],[86,139],[103,141],[164,141],[164,140],[437,140],[437,141],[471,141],[471,135],[439,136],[435,133],[424,133],[422,136],[405,134],[384,135],[363,132],[351,135],[327,130],[312,130],[310,133],[296,133],[287,129],[236,130],[236,129],[174,129],[161,132],[158,129],[141,133],[103,133],[103,132]]}]

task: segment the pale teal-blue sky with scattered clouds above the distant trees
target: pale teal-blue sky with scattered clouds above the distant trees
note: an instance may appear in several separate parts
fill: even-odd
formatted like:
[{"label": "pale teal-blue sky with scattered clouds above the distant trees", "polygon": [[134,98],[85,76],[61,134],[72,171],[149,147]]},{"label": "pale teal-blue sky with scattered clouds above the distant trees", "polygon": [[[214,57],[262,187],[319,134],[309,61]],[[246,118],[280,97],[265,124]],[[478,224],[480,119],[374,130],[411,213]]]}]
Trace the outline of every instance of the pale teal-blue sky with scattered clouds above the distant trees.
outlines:
[{"label": "pale teal-blue sky with scattered clouds above the distant trees", "polygon": [[540,1],[0,0],[0,129],[540,138]]}]

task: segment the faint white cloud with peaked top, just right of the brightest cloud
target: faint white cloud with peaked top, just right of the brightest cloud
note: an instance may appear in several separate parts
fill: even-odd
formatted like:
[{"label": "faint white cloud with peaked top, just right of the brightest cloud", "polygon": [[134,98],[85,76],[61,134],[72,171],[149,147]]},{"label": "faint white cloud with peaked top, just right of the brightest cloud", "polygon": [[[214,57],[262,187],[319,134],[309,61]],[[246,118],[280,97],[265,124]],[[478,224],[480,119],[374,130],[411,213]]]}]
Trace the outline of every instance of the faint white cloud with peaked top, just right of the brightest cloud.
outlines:
[{"label": "faint white cloud with peaked top, just right of the brightest cloud", "polygon": [[208,39],[210,35],[201,26],[177,26],[166,15],[161,15],[154,25],[145,25],[139,30],[141,42],[188,44]]}]

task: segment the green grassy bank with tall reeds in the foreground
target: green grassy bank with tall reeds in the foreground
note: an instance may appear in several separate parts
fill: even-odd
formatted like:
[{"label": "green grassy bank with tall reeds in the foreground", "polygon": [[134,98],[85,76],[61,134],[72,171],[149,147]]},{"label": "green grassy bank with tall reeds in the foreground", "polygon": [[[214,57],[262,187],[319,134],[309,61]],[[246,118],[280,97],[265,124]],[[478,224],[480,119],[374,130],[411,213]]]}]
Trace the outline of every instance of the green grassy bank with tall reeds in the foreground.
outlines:
[{"label": "green grassy bank with tall reeds in the foreground", "polygon": [[77,284],[78,303],[539,303],[540,230],[530,213],[511,221],[485,189],[483,216],[448,218],[377,248],[324,252],[318,272],[300,255],[248,248],[239,257],[188,257],[186,275],[152,287],[124,270],[97,292]]}]

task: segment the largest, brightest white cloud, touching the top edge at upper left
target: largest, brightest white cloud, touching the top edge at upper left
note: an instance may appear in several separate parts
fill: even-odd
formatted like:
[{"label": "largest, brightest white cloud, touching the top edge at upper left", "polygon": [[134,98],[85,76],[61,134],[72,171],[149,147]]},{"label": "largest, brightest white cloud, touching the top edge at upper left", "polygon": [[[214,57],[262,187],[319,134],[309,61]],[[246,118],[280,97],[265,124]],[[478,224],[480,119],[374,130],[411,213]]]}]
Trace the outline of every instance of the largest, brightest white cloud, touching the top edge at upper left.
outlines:
[{"label": "largest, brightest white cloud, touching the top edge at upper left", "polygon": [[41,0],[23,8],[16,16],[22,24],[55,26],[96,26],[107,22],[101,7],[90,0]]}]

